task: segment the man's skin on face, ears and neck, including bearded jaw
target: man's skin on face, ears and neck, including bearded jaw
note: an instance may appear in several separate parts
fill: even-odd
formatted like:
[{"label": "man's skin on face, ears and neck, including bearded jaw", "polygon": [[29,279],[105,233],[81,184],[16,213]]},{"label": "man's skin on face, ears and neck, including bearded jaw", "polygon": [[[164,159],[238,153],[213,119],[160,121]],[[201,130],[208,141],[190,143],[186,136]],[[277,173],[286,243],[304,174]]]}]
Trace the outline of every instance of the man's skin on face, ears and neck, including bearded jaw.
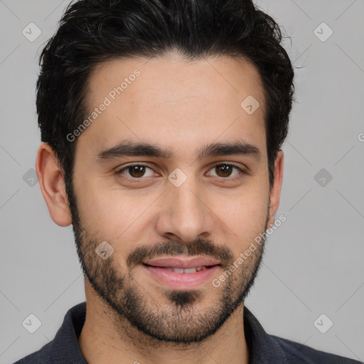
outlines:
[{"label": "man's skin on face, ears and neck, including bearded jaw", "polygon": [[[193,255],[193,249],[213,258],[224,252],[227,269],[274,224],[283,152],[278,153],[270,188],[259,73],[249,61],[226,56],[192,62],[176,54],[148,61],[111,60],[90,76],[89,105],[100,105],[136,68],[141,75],[77,137],[73,192],[79,224],[75,214],[71,216],[63,171],[53,150],[48,144],[38,149],[36,171],[50,216],[60,226],[73,223],[84,264],[87,315],[80,348],[90,364],[248,363],[242,295],[254,281],[262,248],[220,287],[213,287],[210,279],[184,292],[169,289],[138,259],[128,264],[128,258],[137,247],[144,248],[141,257],[152,248],[156,257],[166,257],[164,247],[183,256]],[[248,95],[260,103],[253,114],[240,107]],[[125,139],[166,147],[172,156],[97,161],[100,151]],[[237,140],[256,146],[260,159],[196,159],[201,146]],[[115,174],[136,162],[151,168],[141,173],[141,182],[135,170]],[[216,168],[222,162],[247,174],[235,168],[231,176],[223,174]],[[187,176],[179,187],[168,181],[175,168]],[[114,249],[105,260],[95,254],[102,241]],[[126,297],[134,300],[134,309],[127,306]],[[228,316],[222,319],[224,313]]]}]

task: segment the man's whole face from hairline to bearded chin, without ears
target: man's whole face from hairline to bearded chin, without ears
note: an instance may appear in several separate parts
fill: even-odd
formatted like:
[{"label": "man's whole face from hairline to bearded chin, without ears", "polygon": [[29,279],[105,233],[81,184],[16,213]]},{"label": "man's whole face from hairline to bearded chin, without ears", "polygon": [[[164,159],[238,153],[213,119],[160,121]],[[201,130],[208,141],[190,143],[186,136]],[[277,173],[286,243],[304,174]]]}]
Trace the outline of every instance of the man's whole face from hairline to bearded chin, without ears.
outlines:
[{"label": "man's whole face from hairline to bearded chin, without ears", "polygon": [[69,196],[85,276],[120,322],[202,341],[242,304],[264,244],[239,257],[272,219],[259,74],[171,55],[103,63],[88,86]]}]

